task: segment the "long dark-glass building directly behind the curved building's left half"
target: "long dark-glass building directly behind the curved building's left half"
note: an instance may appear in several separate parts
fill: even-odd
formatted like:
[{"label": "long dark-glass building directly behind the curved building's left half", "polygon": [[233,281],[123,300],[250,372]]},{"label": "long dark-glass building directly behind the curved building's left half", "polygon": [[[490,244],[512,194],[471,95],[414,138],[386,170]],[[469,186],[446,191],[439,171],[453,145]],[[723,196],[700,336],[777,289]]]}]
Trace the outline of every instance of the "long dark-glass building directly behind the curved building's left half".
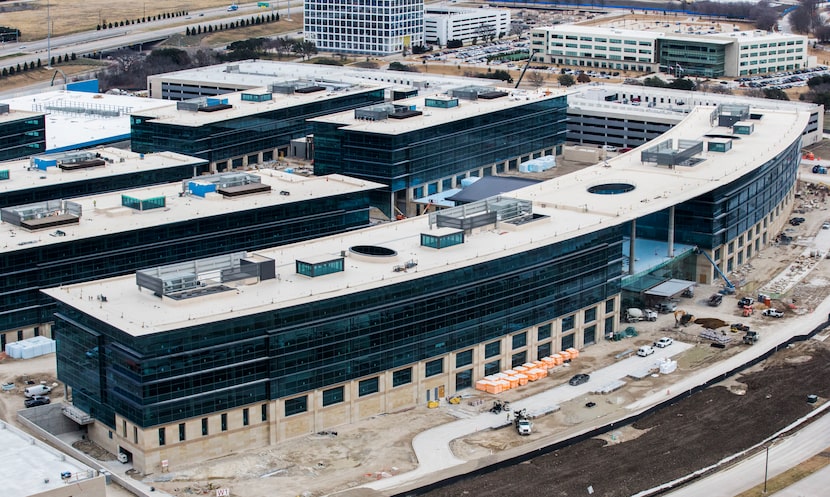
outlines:
[{"label": "long dark-glass building directly behind the curved building's left half", "polygon": [[40,288],[366,227],[379,186],[262,170],[4,207],[0,345],[51,335]]}]

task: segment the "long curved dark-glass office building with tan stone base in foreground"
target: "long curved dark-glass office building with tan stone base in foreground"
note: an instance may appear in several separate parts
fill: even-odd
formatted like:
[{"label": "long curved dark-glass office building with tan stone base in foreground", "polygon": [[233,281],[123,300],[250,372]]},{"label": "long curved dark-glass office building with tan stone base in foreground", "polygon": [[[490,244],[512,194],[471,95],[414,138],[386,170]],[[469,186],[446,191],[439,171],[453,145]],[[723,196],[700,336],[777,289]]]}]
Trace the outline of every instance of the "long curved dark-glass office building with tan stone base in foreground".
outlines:
[{"label": "long curved dark-glass office building with tan stone base in foreground", "polygon": [[772,243],[808,120],[698,107],[641,153],[485,201],[46,290],[59,378],[143,473],[455,395],[613,334],[626,279],[711,283],[710,260]]}]

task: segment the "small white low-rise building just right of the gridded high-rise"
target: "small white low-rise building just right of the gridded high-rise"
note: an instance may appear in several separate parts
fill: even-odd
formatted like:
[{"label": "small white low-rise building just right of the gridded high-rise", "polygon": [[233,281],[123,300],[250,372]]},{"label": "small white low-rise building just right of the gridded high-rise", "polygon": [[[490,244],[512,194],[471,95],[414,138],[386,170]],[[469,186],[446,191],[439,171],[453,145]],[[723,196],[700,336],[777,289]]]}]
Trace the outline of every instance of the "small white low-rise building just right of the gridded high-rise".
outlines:
[{"label": "small white low-rise building just right of the gridded high-rise", "polygon": [[429,5],[424,15],[424,38],[428,44],[445,46],[449,40],[465,44],[474,38],[497,39],[510,33],[508,9],[462,8]]}]

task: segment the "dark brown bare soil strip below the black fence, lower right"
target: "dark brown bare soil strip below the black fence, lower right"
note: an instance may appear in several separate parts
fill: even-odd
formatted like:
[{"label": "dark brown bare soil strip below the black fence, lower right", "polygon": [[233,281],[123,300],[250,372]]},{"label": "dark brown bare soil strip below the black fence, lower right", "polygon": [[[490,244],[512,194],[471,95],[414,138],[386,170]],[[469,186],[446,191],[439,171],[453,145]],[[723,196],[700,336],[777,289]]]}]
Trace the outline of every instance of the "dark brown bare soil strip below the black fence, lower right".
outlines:
[{"label": "dark brown bare soil strip below the black fence, lower right", "polygon": [[829,382],[830,348],[810,341],[609,436],[424,495],[634,495],[762,441],[820,405],[807,395],[826,401]]}]

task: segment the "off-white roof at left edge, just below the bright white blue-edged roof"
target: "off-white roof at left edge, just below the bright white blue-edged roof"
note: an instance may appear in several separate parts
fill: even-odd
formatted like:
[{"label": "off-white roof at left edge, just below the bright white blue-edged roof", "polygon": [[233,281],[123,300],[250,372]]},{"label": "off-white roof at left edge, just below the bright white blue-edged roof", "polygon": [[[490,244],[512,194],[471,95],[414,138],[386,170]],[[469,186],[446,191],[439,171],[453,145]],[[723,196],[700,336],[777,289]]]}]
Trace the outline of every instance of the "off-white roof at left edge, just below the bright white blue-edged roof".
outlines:
[{"label": "off-white roof at left edge, just below the bright white blue-edged roof", "polygon": [[[151,171],[166,169],[183,164],[206,164],[207,161],[175,152],[158,152],[153,154],[138,154],[113,147],[99,147],[84,152],[98,153],[101,158],[112,159],[103,166],[84,169],[61,169],[49,167],[45,171],[32,167],[29,159],[0,162],[0,170],[9,171],[9,179],[0,181],[0,195],[6,192],[28,190],[32,187],[86,181],[94,178],[107,178],[130,174],[136,171]],[[38,155],[40,157],[41,155]],[[50,158],[49,155],[43,155]],[[123,159],[123,160],[122,160]]]}]

